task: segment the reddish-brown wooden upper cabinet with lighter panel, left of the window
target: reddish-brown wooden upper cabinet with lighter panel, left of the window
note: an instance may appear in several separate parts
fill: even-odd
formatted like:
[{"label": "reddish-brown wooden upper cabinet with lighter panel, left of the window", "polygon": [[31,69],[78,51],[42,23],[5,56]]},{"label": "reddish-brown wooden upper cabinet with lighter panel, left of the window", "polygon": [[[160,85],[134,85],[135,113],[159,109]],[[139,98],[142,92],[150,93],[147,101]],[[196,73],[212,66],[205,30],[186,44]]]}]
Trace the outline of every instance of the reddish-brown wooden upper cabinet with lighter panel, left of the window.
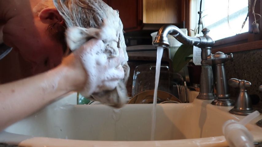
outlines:
[{"label": "reddish-brown wooden upper cabinet with lighter panel, left of the window", "polygon": [[[187,27],[189,0],[103,0],[119,11],[124,31],[140,30],[148,24]],[[182,25],[181,25],[182,24]]]}]

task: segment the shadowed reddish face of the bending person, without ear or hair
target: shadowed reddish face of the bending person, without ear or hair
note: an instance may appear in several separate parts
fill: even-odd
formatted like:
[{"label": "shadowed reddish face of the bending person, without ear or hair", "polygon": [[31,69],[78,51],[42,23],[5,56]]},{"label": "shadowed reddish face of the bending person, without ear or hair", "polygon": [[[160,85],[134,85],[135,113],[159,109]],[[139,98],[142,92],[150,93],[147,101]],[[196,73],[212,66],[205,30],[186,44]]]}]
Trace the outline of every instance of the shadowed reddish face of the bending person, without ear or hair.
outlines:
[{"label": "shadowed reddish face of the bending person, without ear or hair", "polygon": [[47,33],[48,26],[57,20],[48,11],[43,12],[44,17],[41,19],[34,15],[32,7],[35,3],[35,0],[31,3],[23,1],[14,6],[17,13],[14,12],[14,17],[5,24],[3,40],[33,64],[34,73],[39,73],[57,66],[61,62],[63,50],[62,45]]}]

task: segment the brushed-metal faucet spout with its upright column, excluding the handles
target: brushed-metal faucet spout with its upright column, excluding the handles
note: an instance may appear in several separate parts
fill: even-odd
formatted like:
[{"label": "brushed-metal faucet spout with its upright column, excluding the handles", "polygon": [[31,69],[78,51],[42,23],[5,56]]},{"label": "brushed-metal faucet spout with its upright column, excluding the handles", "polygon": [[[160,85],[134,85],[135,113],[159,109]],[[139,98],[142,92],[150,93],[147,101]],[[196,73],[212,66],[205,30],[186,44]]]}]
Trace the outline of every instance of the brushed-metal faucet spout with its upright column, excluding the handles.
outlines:
[{"label": "brushed-metal faucet spout with its upright column, excluding the handles", "polygon": [[[168,34],[175,37],[179,42],[186,45],[194,45],[201,48],[201,59],[202,61],[207,60],[207,56],[211,54],[211,47],[214,45],[214,40],[208,36],[209,29],[204,28],[202,30],[204,36],[191,37],[184,34],[178,27],[174,25],[164,25],[162,26],[152,44],[155,47],[168,47]],[[203,64],[202,64],[203,63]],[[214,94],[214,80],[212,66],[204,64],[202,62],[201,76],[200,76],[200,93],[198,99],[203,100],[213,100],[215,99]]]}]

